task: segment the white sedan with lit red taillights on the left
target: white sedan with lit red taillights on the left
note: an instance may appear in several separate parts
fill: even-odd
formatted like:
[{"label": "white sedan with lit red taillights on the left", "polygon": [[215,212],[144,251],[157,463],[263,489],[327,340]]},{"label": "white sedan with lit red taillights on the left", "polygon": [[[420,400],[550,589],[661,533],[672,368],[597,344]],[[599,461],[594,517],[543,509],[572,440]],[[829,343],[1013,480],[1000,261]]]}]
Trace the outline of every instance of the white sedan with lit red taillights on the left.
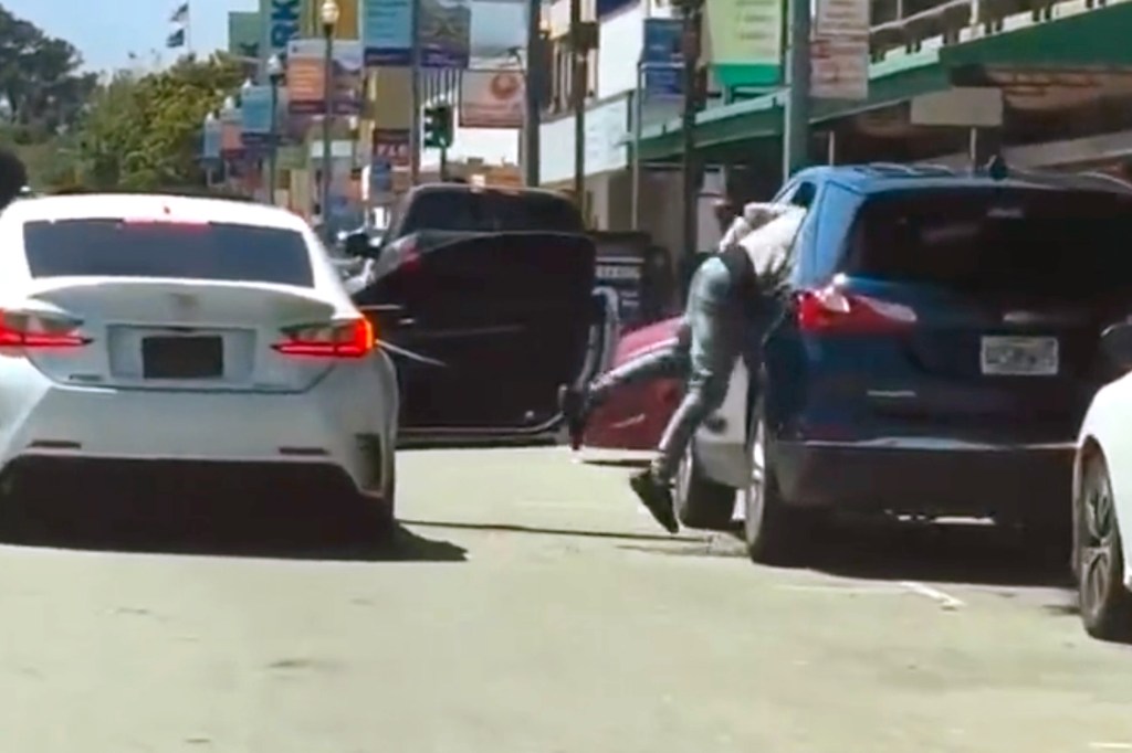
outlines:
[{"label": "white sedan with lit red taillights on the left", "polygon": [[255,476],[392,526],[395,371],[300,217],[66,196],[15,202],[0,236],[0,490]]}]

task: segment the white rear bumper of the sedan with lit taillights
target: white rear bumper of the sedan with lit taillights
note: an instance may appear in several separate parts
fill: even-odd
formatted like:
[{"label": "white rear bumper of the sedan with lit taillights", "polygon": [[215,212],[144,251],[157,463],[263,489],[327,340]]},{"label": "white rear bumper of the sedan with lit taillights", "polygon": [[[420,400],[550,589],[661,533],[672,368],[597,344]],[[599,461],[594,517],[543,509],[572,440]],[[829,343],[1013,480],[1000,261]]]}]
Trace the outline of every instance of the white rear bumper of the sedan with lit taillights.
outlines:
[{"label": "white rear bumper of the sedan with lit taillights", "polygon": [[309,466],[337,469],[355,491],[380,494],[395,442],[388,412],[396,393],[381,399],[376,372],[345,379],[332,372],[301,395],[88,389],[42,378],[23,387],[18,400],[0,405],[5,473],[45,464],[153,470],[168,461],[169,468],[274,467],[282,477],[307,473],[286,466]]}]

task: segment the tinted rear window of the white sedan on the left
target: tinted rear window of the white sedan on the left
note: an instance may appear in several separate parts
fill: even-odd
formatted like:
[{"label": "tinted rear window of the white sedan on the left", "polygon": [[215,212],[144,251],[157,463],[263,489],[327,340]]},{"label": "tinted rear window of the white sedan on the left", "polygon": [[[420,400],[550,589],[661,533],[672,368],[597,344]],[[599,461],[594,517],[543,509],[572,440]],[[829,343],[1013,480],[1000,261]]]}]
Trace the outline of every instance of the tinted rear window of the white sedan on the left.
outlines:
[{"label": "tinted rear window of the white sedan on the left", "polygon": [[310,287],[302,235],[228,224],[65,219],[24,226],[33,277],[188,277]]}]

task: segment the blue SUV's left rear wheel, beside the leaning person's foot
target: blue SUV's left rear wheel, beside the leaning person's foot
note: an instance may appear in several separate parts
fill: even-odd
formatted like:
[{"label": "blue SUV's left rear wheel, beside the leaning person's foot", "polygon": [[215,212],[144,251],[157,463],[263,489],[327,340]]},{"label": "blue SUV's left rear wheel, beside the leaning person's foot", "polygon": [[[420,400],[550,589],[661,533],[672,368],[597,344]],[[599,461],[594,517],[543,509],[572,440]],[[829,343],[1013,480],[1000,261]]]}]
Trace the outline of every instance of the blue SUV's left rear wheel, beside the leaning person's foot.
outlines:
[{"label": "blue SUV's left rear wheel, beside the leaning person's foot", "polygon": [[815,516],[788,507],[765,450],[766,425],[762,406],[755,406],[747,452],[751,475],[743,490],[743,535],[753,562],[775,565],[805,564],[812,551]]}]

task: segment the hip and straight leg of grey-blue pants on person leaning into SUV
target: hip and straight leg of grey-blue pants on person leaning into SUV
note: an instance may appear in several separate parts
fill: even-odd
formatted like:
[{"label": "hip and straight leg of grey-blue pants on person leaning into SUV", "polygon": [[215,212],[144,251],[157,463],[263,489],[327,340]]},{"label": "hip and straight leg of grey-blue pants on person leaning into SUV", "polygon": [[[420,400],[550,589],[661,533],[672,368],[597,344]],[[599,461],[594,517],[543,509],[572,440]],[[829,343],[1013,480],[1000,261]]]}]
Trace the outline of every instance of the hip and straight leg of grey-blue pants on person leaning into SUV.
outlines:
[{"label": "hip and straight leg of grey-blue pants on person leaning into SUV", "polygon": [[729,313],[730,272],[719,258],[700,265],[688,289],[684,318],[692,330],[687,389],[661,436],[652,469],[661,481],[676,475],[696,430],[727,398],[727,387],[743,347],[746,322]]}]

